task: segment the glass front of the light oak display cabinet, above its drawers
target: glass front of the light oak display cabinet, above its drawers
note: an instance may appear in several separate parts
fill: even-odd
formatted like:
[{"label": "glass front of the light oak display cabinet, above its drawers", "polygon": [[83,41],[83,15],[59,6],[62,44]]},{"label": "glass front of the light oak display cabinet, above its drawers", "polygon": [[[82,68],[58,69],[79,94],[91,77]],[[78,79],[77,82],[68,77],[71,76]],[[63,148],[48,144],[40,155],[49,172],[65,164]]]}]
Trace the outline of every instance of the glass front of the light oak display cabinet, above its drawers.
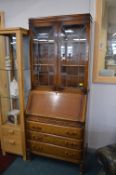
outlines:
[{"label": "glass front of the light oak display cabinet, above its drawers", "polygon": [[[19,86],[16,54],[16,35],[5,35],[4,59],[0,64],[0,108],[2,122],[18,124],[19,121]],[[16,119],[14,121],[14,119]],[[11,121],[12,120],[12,121]]]}]

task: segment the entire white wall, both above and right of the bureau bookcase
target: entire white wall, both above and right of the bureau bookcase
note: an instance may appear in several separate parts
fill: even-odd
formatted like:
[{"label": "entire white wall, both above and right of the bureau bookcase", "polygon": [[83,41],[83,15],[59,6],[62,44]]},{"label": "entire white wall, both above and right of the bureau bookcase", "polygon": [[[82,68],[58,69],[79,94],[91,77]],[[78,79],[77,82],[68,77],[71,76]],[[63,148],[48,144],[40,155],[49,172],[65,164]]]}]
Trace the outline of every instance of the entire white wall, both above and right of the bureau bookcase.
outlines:
[{"label": "entire white wall, both above and right of the bureau bookcase", "polygon": [[[6,27],[28,28],[30,17],[81,14],[95,17],[95,0],[0,0]],[[116,142],[116,85],[92,84],[93,37],[91,30],[90,94],[88,105],[88,143],[97,148]]]}]

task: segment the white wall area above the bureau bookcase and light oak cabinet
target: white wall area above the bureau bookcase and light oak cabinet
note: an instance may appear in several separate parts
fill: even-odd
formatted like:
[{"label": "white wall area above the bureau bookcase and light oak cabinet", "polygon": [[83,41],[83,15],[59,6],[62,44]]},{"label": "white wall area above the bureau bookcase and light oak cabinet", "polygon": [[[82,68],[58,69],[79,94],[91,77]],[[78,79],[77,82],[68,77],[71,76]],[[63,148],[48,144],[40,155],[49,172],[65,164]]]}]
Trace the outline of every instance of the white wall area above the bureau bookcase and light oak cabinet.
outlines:
[{"label": "white wall area above the bureau bookcase and light oak cabinet", "polygon": [[0,0],[7,27],[28,27],[30,17],[89,12],[89,0]]}]

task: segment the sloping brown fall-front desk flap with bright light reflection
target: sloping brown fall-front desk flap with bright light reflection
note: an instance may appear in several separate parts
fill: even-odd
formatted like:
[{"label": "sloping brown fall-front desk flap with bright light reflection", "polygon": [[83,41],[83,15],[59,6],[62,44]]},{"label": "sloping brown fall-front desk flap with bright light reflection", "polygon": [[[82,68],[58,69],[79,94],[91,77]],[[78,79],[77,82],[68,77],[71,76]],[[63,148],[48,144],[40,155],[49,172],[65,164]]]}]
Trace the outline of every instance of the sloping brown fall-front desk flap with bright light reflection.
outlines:
[{"label": "sloping brown fall-front desk flap with bright light reflection", "polygon": [[86,95],[31,91],[26,114],[84,122],[85,109]]}]

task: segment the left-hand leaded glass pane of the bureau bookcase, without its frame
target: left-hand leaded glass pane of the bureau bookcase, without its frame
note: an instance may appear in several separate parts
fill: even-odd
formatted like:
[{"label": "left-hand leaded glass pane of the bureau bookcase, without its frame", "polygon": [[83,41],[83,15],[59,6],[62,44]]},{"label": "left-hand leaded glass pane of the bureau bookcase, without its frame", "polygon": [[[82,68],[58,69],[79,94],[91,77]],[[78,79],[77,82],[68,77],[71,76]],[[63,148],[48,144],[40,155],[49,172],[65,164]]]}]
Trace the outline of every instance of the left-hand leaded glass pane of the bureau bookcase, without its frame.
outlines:
[{"label": "left-hand leaded glass pane of the bureau bookcase, without its frame", "polygon": [[55,73],[53,27],[34,28],[33,58],[33,85],[52,85]]}]

